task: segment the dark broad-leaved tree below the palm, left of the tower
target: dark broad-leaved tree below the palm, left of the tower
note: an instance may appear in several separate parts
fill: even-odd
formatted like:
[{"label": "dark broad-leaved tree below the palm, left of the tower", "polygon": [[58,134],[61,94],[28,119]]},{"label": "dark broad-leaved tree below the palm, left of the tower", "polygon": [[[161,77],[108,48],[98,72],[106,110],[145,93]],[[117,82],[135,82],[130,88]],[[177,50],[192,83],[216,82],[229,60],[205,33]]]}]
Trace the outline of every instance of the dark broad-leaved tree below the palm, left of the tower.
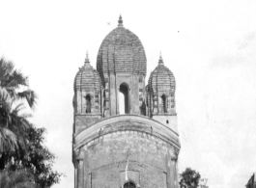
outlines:
[{"label": "dark broad-leaved tree below the palm, left of the tower", "polygon": [[13,160],[11,169],[13,171],[20,168],[29,169],[40,188],[50,187],[58,183],[63,175],[52,171],[55,155],[43,145],[44,132],[44,128],[32,126],[27,130],[27,138],[29,140],[27,149],[20,149],[11,156],[11,160]]}]

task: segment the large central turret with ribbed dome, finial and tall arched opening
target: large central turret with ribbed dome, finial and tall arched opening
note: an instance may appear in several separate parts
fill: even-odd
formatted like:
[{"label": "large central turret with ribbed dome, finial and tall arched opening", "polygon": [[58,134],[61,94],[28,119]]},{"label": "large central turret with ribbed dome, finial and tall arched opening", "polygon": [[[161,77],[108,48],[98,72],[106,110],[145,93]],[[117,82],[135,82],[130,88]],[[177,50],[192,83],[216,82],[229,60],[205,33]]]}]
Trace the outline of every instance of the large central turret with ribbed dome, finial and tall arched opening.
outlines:
[{"label": "large central turret with ribbed dome, finial and tall arched opening", "polygon": [[142,105],[146,68],[144,47],[138,37],[123,26],[120,15],[118,27],[102,41],[97,57],[104,88],[103,117],[145,114]]}]

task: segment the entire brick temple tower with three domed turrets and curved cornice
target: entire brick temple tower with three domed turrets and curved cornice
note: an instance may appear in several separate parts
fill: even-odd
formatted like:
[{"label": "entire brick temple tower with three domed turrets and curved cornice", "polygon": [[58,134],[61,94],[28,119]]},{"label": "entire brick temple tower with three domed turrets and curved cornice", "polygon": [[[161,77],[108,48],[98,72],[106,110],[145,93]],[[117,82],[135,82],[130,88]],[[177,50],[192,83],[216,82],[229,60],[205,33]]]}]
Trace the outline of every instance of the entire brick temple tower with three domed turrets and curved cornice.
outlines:
[{"label": "entire brick temple tower with three domed turrets and curved cornice", "polygon": [[122,17],[74,80],[75,188],[178,188],[175,78],[158,66],[145,85],[142,42]]}]

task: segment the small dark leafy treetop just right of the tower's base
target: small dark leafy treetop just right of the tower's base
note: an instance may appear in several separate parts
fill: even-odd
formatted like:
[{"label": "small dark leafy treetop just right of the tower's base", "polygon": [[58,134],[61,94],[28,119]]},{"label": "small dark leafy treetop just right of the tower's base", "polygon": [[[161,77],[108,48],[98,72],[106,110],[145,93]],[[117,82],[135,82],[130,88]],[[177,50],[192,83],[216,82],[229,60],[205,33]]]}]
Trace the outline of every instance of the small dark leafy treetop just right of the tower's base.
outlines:
[{"label": "small dark leafy treetop just right of the tower's base", "polygon": [[181,174],[180,187],[181,188],[197,188],[199,186],[201,175],[192,170],[191,168],[186,168],[185,172]]}]

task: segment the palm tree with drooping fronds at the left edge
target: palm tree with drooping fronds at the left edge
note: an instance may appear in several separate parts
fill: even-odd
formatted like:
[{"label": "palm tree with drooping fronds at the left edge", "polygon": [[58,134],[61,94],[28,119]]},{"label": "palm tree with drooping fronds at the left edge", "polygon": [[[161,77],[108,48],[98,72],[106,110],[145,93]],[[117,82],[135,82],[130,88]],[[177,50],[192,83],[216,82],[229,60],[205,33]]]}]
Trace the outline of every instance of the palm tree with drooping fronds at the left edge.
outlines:
[{"label": "palm tree with drooping fronds at the left edge", "polygon": [[0,59],[0,158],[3,153],[26,146],[24,133],[31,124],[27,115],[19,112],[24,100],[34,109],[37,95],[31,90],[17,92],[21,87],[28,87],[28,77],[14,69],[12,62]]}]

